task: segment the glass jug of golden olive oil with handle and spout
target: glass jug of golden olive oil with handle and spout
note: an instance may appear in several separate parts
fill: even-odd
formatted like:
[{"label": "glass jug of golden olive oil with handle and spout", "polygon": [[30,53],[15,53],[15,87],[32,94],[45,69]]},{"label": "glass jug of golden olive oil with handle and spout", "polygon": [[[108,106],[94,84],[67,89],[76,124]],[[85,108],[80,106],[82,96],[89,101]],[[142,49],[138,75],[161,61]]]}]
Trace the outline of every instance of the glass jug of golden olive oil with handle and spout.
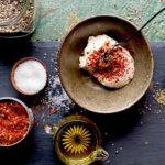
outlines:
[{"label": "glass jug of golden olive oil with handle and spout", "polygon": [[54,135],[56,154],[66,165],[89,165],[109,156],[100,146],[101,135],[97,125],[86,117],[69,116],[48,128]]}]

